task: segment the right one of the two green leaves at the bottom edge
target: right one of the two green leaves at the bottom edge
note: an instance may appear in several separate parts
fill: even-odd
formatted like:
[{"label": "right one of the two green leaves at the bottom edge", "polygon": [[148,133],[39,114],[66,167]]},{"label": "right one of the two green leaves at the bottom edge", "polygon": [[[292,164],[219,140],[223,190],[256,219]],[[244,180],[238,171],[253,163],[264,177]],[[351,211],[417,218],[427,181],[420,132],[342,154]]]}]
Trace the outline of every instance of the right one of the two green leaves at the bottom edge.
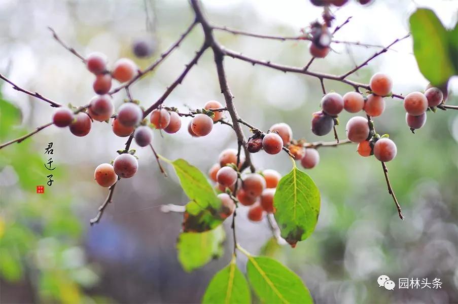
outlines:
[{"label": "right one of the two green leaves at the bottom edge", "polygon": [[246,275],[265,303],[313,303],[298,275],[273,258],[248,256]]}]

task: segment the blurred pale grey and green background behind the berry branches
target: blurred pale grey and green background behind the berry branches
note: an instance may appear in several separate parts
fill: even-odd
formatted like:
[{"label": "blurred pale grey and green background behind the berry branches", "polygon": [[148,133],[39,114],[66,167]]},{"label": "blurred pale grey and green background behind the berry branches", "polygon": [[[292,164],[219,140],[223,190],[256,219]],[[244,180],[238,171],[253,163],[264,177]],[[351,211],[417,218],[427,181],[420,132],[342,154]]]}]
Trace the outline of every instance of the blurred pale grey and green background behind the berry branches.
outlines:
[{"label": "blurred pale grey and green background behind the berry branches", "polygon": [[[0,71],[18,85],[58,102],[84,105],[93,95],[92,75],[53,41],[46,26],[53,26],[83,54],[106,53],[111,63],[123,56],[133,58],[130,43],[136,37],[154,39],[158,48],[153,58],[136,60],[145,67],[193,18],[186,1],[147,3],[156,24],[153,33],[145,27],[143,1],[23,1],[21,10],[15,1],[6,1],[0,4]],[[444,18],[444,24],[454,24],[456,1],[428,5]],[[376,0],[369,7],[352,3],[335,12],[336,24],[353,16],[336,38],[389,44],[408,31],[412,6],[407,0]],[[321,14],[305,0],[281,4],[204,2],[204,7],[217,24],[283,35],[298,34]],[[226,33],[217,36],[228,48],[260,59],[304,66],[310,58],[306,42],[280,43]],[[197,28],[169,60],[132,88],[134,98],[142,105],[154,102],[201,41]],[[311,69],[340,74],[375,52],[340,44],[335,45],[335,51],[329,58],[316,60]],[[424,90],[427,82],[411,52],[411,40],[403,41],[351,79],[368,83],[370,76],[381,70],[393,76],[396,93]],[[311,113],[319,109],[322,95],[318,80],[229,58],[225,64],[235,105],[244,120],[263,130],[283,121],[291,125],[297,139],[333,140],[332,134],[317,138],[310,131]],[[351,90],[336,82],[325,81],[325,86],[341,94]],[[448,103],[458,104],[456,79],[450,89],[454,94]],[[2,142],[50,121],[53,109],[47,104],[14,91],[8,84],[2,85],[2,92]],[[116,105],[125,98],[122,94],[115,97]],[[212,54],[207,52],[165,104],[185,110],[186,106],[202,107],[211,99],[222,101],[222,96]],[[315,302],[458,302],[457,113],[428,112],[426,126],[412,134],[401,102],[386,98],[386,103],[385,112],[374,121],[377,131],[389,133],[398,146],[398,156],[388,167],[404,221],[398,218],[387,193],[380,163],[359,157],[356,146],[348,144],[320,148],[320,164],[307,171],[322,194],[318,226],[309,239],[295,249],[278,246],[270,241],[267,222],[249,222],[241,207],[237,212],[239,242],[252,253],[263,252],[288,265],[304,280]],[[348,113],[340,117],[340,138],[345,137],[344,125],[350,117]],[[187,123],[185,120],[183,126]],[[120,182],[114,203],[101,222],[90,227],[89,219],[107,195],[106,189],[93,181],[93,170],[110,162],[125,139],[112,134],[105,123],[94,124],[84,138],[76,138],[68,130],[48,129],[0,151],[2,302],[199,302],[210,278],[231,258],[230,233],[220,259],[191,273],[183,271],[175,250],[181,215],[161,213],[160,205],[183,205],[187,198],[170,167],[169,178],[163,178],[149,149],[137,149],[137,175]],[[43,153],[51,141],[55,182],[38,195],[36,185],[47,181]],[[227,126],[216,126],[212,134],[199,139],[191,138],[186,130],[163,137],[155,132],[153,142],[161,155],[172,160],[184,158],[204,172],[222,149],[236,146]],[[282,174],[291,169],[284,154],[258,153],[254,162],[258,169],[272,168]],[[225,229],[229,232],[227,222]],[[241,269],[245,262],[240,256]],[[387,291],[376,283],[382,274],[396,283],[398,278],[440,278],[442,289]]]}]

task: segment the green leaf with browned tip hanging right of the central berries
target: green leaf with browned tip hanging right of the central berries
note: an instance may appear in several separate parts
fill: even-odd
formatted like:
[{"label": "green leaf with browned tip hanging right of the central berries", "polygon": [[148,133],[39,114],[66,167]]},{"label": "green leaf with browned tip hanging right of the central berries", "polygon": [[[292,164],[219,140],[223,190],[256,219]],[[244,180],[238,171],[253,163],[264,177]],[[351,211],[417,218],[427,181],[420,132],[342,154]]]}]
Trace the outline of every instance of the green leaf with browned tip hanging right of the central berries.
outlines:
[{"label": "green leaf with browned tip hanging right of the central berries", "polygon": [[320,191],[310,176],[294,166],[280,179],[273,201],[281,237],[293,247],[308,238],[320,214]]}]

